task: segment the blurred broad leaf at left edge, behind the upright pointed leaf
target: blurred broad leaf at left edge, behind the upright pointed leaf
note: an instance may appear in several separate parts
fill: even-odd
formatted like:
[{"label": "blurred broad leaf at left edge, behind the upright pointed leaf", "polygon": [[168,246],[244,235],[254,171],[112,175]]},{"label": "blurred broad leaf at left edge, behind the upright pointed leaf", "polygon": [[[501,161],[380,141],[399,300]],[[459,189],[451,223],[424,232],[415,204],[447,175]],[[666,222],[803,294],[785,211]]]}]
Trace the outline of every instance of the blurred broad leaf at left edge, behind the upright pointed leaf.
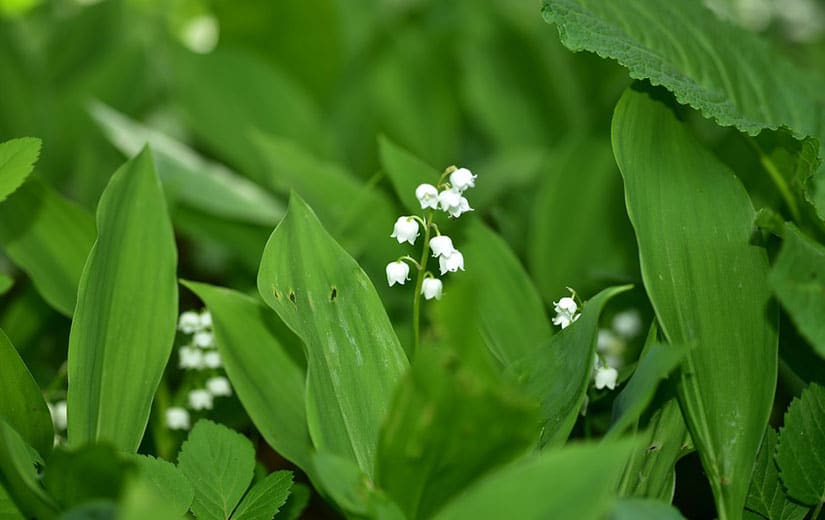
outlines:
[{"label": "blurred broad leaf at left edge, behind the upright pointed leaf", "polygon": [[74,312],[80,273],[95,239],[95,222],[80,206],[38,179],[0,204],[0,243],[52,307]]}]

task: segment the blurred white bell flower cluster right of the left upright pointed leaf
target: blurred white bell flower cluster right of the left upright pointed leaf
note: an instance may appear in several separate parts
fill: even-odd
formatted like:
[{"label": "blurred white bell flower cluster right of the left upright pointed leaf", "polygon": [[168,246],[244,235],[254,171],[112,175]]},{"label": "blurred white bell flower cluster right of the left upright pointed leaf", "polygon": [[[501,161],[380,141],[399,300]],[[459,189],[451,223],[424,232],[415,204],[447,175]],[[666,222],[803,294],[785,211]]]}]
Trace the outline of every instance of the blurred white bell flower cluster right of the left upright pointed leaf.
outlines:
[{"label": "blurred white bell flower cluster right of the left upright pointed leaf", "polygon": [[[189,410],[211,410],[216,397],[232,395],[229,380],[220,372],[221,356],[215,347],[212,315],[209,311],[186,311],[180,315],[178,330],[186,341],[178,348],[178,368],[194,371],[189,377],[185,406],[166,409],[166,426],[171,430],[191,427]],[[202,386],[201,386],[202,385]]]}]

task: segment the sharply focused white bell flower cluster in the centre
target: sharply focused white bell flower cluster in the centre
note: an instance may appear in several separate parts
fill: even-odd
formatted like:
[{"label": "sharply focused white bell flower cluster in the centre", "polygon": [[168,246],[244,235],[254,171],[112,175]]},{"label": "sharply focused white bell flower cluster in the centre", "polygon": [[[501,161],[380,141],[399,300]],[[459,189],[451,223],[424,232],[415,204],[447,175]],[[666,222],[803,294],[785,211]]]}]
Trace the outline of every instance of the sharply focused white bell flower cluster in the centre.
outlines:
[{"label": "sharply focused white bell flower cluster in the centre", "polygon": [[[440,279],[426,270],[428,250],[432,251],[433,258],[438,258],[438,268],[442,276],[459,269],[464,270],[464,255],[453,246],[450,237],[441,234],[438,226],[433,222],[433,214],[440,209],[451,218],[458,218],[468,211],[473,211],[464,193],[469,188],[475,187],[475,179],[476,175],[473,175],[467,168],[451,166],[441,176],[437,185],[421,184],[415,189],[415,197],[425,212],[424,216],[398,217],[390,237],[396,239],[399,244],[407,242],[415,245],[423,226],[424,254],[420,262],[410,256],[402,256],[395,262],[387,264],[387,283],[390,287],[395,284],[404,285],[410,279],[410,264],[412,264],[419,272],[420,294],[423,294],[427,300],[440,299],[443,284]],[[436,236],[430,238],[431,231],[435,231]]]}]

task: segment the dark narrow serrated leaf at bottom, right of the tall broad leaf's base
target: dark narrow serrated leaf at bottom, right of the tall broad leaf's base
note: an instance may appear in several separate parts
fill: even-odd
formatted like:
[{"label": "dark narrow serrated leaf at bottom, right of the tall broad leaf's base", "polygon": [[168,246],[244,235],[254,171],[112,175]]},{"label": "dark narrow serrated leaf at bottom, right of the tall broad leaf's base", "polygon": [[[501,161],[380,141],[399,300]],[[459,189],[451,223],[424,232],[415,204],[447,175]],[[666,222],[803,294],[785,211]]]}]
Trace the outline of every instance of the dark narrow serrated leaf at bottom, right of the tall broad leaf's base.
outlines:
[{"label": "dark narrow serrated leaf at bottom, right of the tall broad leaf's base", "polygon": [[776,432],[769,427],[762,437],[745,507],[768,520],[802,520],[808,508],[792,501],[785,493],[774,460],[776,444]]}]

